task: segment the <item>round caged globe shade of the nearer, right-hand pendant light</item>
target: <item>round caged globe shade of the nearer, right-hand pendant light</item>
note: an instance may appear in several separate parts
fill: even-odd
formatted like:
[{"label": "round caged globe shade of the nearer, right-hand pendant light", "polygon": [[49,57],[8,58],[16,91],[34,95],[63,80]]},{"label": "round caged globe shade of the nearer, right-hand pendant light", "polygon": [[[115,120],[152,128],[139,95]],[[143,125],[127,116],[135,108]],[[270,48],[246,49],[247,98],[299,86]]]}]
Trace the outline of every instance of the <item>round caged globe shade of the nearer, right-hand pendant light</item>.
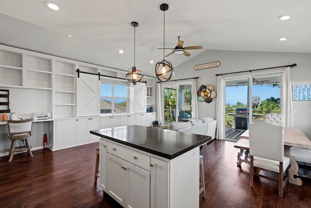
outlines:
[{"label": "round caged globe shade of the nearer, right-hand pendant light", "polygon": [[173,66],[169,60],[163,59],[155,64],[155,76],[159,81],[169,81],[173,75]]}]

